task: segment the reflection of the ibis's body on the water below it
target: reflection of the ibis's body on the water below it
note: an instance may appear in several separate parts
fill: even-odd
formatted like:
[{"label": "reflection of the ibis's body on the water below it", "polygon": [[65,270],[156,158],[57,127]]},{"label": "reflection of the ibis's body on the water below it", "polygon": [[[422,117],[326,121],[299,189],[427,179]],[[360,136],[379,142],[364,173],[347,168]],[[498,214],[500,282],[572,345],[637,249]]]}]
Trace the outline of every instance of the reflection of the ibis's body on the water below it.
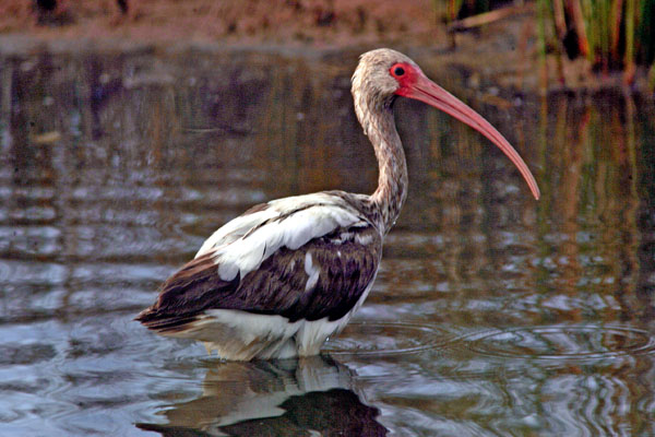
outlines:
[{"label": "reflection of the ibis's body on the water below it", "polygon": [[162,436],[385,436],[380,411],[353,389],[353,371],[329,356],[225,362],[202,395],[171,405],[168,424],[136,424]]}]

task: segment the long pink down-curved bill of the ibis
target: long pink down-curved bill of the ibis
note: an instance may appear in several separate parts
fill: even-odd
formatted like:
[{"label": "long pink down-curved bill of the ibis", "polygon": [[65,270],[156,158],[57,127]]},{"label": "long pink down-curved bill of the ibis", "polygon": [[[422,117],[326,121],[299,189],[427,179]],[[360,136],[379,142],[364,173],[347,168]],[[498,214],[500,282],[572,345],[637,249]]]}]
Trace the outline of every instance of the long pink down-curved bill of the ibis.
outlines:
[{"label": "long pink down-curved bill of the ibis", "polygon": [[403,88],[398,94],[427,103],[428,105],[453,116],[457,120],[465,122],[483,135],[487,137],[493,144],[499,146],[505,155],[508,155],[512,163],[514,163],[527,182],[535,199],[539,199],[540,192],[537,181],[527,168],[527,165],[525,165],[523,158],[519,155],[519,152],[516,152],[510,142],[505,140],[505,138],[496,130],[489,121],[485,120],[483,116],[422,74],[417,74],[415,82]]}]

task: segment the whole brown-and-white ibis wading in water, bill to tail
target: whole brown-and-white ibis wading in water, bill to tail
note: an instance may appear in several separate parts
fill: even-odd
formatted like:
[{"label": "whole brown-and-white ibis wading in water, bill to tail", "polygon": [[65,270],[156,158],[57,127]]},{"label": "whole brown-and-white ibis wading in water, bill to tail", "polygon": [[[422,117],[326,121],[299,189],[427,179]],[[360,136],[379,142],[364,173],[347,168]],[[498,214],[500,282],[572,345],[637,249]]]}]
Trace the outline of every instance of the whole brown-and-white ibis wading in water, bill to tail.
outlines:
[{"label": "whole brown-and-white ibis wading in water, bill to tail", "polygon": [[478,130],[539,189],[510,143],[481,116],[386,48],[360,57],[355,111],[379,165],[371,196],[344,191],[272,200],[216,231],[160,287],[136,320],[159,334],[194,339],[224,359],[315,355],[371,291],[382,241],[407,194],[407,166],[393,103],[415,98]]}]

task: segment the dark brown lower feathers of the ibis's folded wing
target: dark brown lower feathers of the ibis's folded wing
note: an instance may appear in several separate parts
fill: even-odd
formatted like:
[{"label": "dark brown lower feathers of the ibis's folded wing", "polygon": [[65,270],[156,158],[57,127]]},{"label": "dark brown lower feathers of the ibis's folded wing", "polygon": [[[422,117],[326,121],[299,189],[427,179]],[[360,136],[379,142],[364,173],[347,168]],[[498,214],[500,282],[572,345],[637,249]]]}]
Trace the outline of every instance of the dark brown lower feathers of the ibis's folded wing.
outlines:
[{"label": "dark brown lower feathers of the ibis's folded wing", "polygon": [[166,281],[157,303],[136,319],[160,331],[175,331],[207,309],[289,321],[341,319],[373,280],[381,255],[382,238],[372,226],[340,227],[295,250],[283,246],[259,269],[229,282],[221,280],[207,253]]}]

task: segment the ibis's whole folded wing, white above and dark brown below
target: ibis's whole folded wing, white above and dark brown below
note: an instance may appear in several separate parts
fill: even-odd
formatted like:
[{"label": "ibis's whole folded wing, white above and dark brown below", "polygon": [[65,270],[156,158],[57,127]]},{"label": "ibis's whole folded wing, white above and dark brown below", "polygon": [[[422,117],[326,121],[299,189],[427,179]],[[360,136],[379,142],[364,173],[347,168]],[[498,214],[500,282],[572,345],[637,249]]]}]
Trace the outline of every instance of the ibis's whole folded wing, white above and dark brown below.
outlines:
[{"label": "ibis's whole folded wing, white above and dark brown below", "polygon": [[275,204],[258,206],[217,231],[136,319],[172,334],[210,309],[278,315],[291,322],[345,316],[374,277],[380,233],[353,209],[325,199],[284,206],[286,212],[276,212],[282,208]]}]

